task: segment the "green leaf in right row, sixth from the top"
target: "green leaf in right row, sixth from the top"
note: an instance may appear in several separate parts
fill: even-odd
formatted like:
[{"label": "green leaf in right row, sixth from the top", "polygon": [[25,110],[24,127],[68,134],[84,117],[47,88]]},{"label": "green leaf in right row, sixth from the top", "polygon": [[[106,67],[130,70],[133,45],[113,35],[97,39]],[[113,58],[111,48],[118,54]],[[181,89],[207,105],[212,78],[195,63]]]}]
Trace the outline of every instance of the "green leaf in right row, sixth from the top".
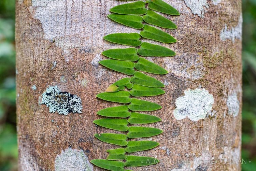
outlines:
[{"label": "green leaf in right row, sixth from the top", "polygon": [[134,84],[143,85],[147,87],[165,87],[163,83],[161,83],[154,77],[148,76],[138,71],[134,73],[130,80]]}]

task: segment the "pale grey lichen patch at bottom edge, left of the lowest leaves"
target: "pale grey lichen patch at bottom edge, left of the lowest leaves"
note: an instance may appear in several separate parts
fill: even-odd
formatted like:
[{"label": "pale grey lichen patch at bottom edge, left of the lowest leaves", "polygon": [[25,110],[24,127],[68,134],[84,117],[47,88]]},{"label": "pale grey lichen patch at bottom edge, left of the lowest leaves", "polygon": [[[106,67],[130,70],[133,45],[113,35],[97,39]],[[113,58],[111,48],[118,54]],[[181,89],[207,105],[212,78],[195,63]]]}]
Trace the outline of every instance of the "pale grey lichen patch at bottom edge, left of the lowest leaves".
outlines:
[{"label": "pale grey lichen patch at bottom edge, left of the lowest leaves", "polygon": [[67,148],[55,158],[55,171],[93,171],[93,166],[83,151]]}]

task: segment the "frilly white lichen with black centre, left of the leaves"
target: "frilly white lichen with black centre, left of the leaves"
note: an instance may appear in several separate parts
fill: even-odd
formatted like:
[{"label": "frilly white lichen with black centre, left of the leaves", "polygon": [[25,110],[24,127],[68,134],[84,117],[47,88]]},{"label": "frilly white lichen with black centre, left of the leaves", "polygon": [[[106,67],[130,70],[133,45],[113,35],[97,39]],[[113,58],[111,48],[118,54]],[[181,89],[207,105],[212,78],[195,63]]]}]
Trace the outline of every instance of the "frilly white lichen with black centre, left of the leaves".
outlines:
[{"label": "frilly white lichen with black centre, left of the leaves", "polygon": [[49,86],[41,95],[42,104],[46,104],[49,112],[67,115],[68,113],[82,113],[81,98],[69,92],[61,92],[57,86]]}]

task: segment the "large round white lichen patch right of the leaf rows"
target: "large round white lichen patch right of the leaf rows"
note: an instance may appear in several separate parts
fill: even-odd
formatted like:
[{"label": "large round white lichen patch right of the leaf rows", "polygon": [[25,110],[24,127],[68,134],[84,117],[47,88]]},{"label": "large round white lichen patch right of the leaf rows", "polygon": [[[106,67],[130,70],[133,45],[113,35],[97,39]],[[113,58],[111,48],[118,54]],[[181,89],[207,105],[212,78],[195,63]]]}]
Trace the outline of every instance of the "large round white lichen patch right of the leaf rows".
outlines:
[{"label": "large round white lichen patch right of the leaf rows", "polygon": [[174,117],[177,120],[188,117],[194,122],[204,119],[207,113],[212,110],[214,103],[213,95],[204,88],[188,89],[184,92],[185,95],[177,98],[175,101]]}]

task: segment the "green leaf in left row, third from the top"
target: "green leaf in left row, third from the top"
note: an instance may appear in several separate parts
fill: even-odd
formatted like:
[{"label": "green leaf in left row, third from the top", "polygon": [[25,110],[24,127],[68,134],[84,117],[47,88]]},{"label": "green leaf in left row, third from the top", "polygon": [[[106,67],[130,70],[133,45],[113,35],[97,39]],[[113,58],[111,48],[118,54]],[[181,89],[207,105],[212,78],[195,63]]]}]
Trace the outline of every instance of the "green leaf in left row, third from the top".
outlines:
[{"label": "green leaf in left row, third from the top", "polygon": [[139,33],[113,33],[103,37],[103,39],[123,45],[139,46],[141,45]]}]

